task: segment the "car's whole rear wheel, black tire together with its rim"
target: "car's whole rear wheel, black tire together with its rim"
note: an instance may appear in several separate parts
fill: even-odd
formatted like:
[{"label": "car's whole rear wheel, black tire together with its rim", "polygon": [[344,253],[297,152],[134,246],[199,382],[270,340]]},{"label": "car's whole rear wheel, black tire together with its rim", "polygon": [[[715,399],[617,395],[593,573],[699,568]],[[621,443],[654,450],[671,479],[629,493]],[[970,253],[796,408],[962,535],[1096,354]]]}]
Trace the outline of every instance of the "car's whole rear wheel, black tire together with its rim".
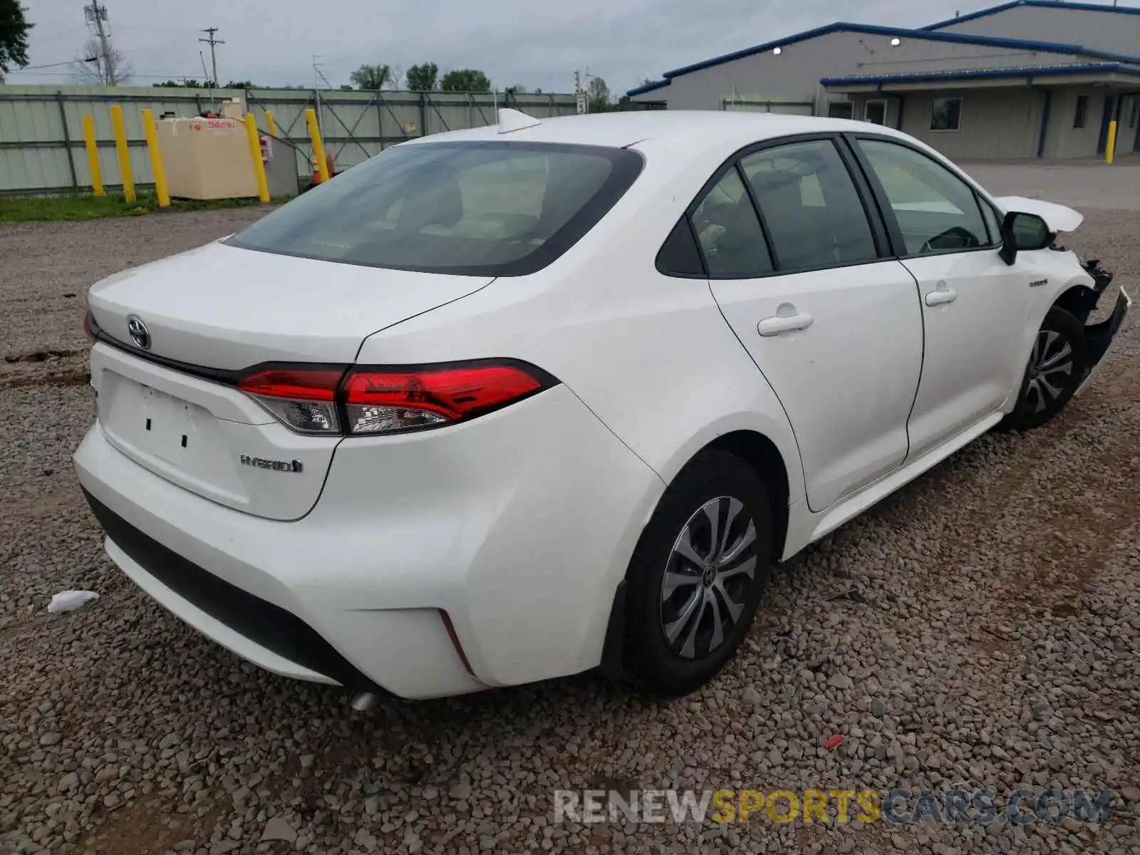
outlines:
[{"label": "car's whole rear wheel, black tire together with its rim", "polygon": [[[706,506],[716,508],[722,549],[710,547],[711,512]],[[732,556],[732,547],[748,542],[749,523],[755,539]],[[706,565],[674,552],[686,531],[692,552]],[[709,563],[723,553],[730,553],[727,560]],[[622,646],[626,673],[642,689],[665,697],[687,694],[716,676],[748,633],[767,587],[771,557],[772,511],[764,483],[735,455],[698,454],[665,491],[629,563]],[[751,575],[747,570],[750,559],[755,559]],[[670,587],[685,577],[668,597],[667,570]],[[689,577],[694,581],[689,583]],[[686,605],[692,606],[687,612]],[[676,620],[685,613],[687,621],[678,626]],[[722,641],[714,645],[718,617]],[[674,633],[671,643],[667,627]]]}]

